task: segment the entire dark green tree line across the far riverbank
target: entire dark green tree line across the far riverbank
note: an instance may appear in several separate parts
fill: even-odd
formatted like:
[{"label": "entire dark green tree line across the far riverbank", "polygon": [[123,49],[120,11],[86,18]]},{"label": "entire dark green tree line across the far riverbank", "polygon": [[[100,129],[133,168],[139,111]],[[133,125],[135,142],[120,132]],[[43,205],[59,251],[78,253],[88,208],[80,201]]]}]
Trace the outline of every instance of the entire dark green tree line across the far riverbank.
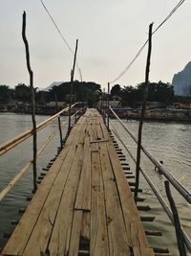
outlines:
[{"label": "entire dark green tree line across the far riverbank", "polygon": [[[89,106],[96,105],[101,95],[101,86],[94,81],[74,81],[73,99],[77,102],[88,102]],[[137,86],[121,86],[116,84],[111,89],[111,98],[118,97],[123,106],[135,106],[142,101],[144,82]],[[35,89],[35,100],[37,105],[45,105],[54,101],[54,95],[57,95],[59,102],[69,102],[71,93],[71,82],[65,81],[60,85],[53,86],[49,91]],[[190,96],[180,97],[174,93],[174,88],[170,83],[150,82],[149,84],[149,102],[159,102],[164,105],[171,105],[173,102],[188,103]],[[0,104],[9,103],[31,103],[31,89],[24,83],[19,83],[11,89],[8,85],[0,85]]]}]

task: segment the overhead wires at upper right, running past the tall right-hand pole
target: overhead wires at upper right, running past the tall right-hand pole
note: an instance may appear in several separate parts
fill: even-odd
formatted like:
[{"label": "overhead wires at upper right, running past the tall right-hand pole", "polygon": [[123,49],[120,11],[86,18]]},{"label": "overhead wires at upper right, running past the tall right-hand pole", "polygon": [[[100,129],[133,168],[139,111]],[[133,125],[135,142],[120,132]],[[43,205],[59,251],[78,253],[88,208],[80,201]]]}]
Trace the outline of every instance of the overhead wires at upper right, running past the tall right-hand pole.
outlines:
[{"label": "overhead wires at upper right, running past the tall right-hand pole", "polygon": [[[180,6],[185,2],[185,0],[180,0],[180,2],[177,4],[177,6],[165,17],[165,19],[159,24],[159,26],[156,28],[156,30],[152,33],[154,35],[156,32],[158,32],[159,28],[180,8]],[[113,83],[115,81],[118,81],[133,65],[133,63],[136,61],[144,47],[148,43],[148,39],[145,41],[145,43],[142,45],[142,47],[139,49],[138,54],[131,60],[131,62],[128,64],[128,66],[117,76],[117,78],[113,81],[110,81],[110,83]]]}]

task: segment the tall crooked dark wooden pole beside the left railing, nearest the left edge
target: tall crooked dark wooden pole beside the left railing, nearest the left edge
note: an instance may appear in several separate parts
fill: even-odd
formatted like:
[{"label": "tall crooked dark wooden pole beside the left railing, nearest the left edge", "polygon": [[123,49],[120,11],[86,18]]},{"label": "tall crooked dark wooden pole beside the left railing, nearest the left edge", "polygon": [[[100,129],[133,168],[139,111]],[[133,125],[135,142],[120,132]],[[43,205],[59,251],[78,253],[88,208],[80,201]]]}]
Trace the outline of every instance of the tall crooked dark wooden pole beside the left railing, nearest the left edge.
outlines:
[{"label": "tall crooked dark wooden pole beside the left railing, nearest the left edge", "polygon": [[37,189],[37,171],[36,171],[36,154],[37,154],[37,142],[36,142],[36,121],[35,121],[35,99],[34,99],[34,88],[33,88],[33,72],[30,63],[30,50],[29,50],[29,43],[26,37],[26,12],[23,12],[23,26],[22,26],[22,37],[25,44],[26,50],[26,60],[27,60],[27,68],[30,74],[30,87],[31,87],[31,94],[32,94],[32,125],[33,125],[33,190],[34,192]]}]

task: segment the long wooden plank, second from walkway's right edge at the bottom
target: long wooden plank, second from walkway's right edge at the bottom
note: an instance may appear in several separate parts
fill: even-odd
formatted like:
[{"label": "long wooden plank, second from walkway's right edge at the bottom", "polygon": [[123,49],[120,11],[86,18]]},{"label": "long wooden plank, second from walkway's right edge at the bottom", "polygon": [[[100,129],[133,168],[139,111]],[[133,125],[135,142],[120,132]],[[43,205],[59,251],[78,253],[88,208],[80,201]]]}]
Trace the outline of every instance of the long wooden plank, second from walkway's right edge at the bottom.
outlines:
[{"label": "long wooden plank, second from walkway's right edge at the bottom", "polygon": [[128,246],[130,242],[126,234],[116,180],[113,175],[107,146],[100,143],[99,147],[110,251],[113,252],[113,255],[130,255]]}]

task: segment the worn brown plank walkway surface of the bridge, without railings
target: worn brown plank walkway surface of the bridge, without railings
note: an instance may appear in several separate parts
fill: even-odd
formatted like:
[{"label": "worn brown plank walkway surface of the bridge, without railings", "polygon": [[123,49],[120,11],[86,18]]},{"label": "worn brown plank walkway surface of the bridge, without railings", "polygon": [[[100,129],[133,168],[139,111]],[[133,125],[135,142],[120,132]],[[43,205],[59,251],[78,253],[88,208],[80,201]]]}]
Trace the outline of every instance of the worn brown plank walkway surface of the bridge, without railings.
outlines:
[{"label": "worn brown plank walkway surface of the bridge, without railings", "polygon": [[88,109],[3,255],[155,255],[101,116]]}]

